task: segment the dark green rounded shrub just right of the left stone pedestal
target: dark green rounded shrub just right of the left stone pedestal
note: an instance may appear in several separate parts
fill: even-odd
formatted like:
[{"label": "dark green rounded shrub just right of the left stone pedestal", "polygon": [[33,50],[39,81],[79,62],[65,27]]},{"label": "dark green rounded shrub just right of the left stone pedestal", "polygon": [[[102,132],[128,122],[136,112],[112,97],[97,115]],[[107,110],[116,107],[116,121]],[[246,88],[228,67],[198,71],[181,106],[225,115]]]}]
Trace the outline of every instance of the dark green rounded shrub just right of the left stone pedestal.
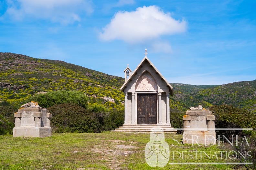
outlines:
[{"label": "dark green rounded shrub just right of the left stone pedestal", "polygon": [[53,133],[87,132],[100,133],[102,126],[93,113],[73,103],[54,105],[48,108],[52,114]]}]

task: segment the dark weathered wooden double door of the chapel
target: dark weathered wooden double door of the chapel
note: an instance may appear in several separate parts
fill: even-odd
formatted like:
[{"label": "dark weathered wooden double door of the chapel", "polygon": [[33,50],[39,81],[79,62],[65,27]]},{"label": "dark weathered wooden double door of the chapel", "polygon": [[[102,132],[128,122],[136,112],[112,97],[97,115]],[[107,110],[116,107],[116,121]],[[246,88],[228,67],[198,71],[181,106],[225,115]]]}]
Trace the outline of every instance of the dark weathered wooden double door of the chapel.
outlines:
[{"label": "dark weathered wooden double door of the chapel", "polygon": [[137,94],[137,123],[157,123],[156,94]]}]

